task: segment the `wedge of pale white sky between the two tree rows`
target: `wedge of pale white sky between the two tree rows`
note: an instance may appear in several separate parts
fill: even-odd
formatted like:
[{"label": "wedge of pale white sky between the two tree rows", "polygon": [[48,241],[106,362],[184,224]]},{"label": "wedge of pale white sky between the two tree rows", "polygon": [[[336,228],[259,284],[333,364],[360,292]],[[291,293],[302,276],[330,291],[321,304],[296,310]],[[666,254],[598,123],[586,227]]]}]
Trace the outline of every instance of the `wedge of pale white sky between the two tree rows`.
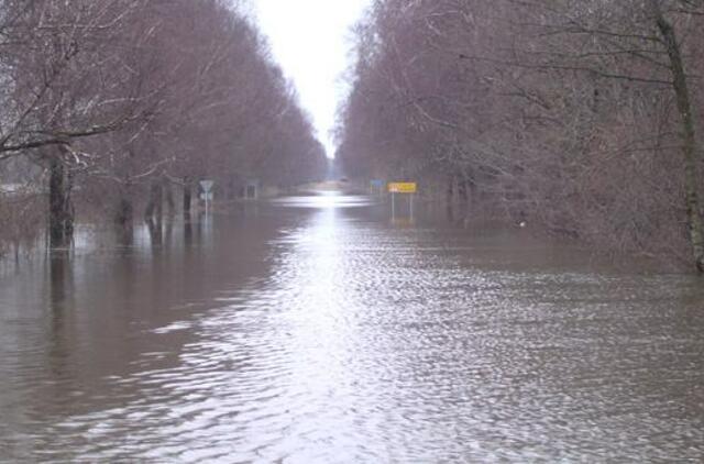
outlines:
[{"label": "wedge of pale white sky between the two tree rows", "polygon": [[274,58],[296,86],[329,157],[334,154],[336,111],[348,91],[343,73],[352,59],[350,27],[369,4],[370,0],[254,0]]}]

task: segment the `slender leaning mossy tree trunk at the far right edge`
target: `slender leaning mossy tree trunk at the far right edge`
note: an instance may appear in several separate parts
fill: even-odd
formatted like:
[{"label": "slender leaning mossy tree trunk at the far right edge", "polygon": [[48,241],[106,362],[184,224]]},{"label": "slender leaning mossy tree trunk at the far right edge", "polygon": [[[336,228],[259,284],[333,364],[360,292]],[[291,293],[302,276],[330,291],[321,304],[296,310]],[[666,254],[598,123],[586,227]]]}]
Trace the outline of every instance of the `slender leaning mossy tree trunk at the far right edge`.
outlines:
[{"label": "slender leaning mossy tree trunk at the far right edge", "polygon": [[682,118],[682,152],[684,154],[684,191],[686,199],[688,225],[690,229],[690,241],[692,243],[692,252],[694,264],[700,273],[704,273],[704,234],[702,232],[702,217],[700,212],[700,200],[696,183],[696,135],[694,132],[694,115],[692,112],[692,102],[690,99],[690,90],[684,71],[684,64],[680,51],[680,44],[676,41],[674,27],[670,24],[657,3],[654,4],[658,29],[664,38],[670,57],[670,67],[672,69],[672,86],[676,96],[678,110]]}]

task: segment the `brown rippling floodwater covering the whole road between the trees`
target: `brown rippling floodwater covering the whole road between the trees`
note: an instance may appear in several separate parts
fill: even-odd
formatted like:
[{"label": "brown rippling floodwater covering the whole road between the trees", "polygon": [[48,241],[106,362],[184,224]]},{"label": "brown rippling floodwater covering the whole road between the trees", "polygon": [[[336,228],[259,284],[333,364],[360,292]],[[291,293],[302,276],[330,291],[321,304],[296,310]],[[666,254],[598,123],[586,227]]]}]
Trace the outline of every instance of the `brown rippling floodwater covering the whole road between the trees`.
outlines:
[{"label": "brown rippling floodwater covering the whole road between the trees", "polygon": [[0,274],[0,462],[702,459],[702,280],[526,230],[329,195]]}]

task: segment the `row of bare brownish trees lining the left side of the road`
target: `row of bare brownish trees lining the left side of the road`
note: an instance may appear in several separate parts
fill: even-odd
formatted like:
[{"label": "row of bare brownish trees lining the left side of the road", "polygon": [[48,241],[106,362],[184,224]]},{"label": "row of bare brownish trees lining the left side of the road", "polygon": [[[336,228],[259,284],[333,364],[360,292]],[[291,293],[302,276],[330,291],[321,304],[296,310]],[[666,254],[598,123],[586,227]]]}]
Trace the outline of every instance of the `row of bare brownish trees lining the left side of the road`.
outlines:
[{"label": "row of bare brownish trees lining the left side of the road", "polygon": [[246,8],[0,0],[0,179],[33,183],[0,197],[6,241],[46,223],[66,247],[77,210],[129,228],[136,208],[173,208],[174,190],[188,216],[202,178],[321,175],[324,150]]}]

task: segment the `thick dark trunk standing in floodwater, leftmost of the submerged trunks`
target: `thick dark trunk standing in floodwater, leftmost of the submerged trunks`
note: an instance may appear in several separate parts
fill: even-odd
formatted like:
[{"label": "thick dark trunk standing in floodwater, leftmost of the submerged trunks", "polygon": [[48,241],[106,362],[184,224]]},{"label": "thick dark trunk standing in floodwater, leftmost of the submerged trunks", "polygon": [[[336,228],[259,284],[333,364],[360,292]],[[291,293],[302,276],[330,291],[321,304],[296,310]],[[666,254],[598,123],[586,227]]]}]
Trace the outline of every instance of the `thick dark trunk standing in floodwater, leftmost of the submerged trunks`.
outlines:
[{"label": "thick dark trunk standing in floodwater, leftmost of the submerged trunks", "polygon": [[50,161],[48,236],[50,247],[67,247],[74,234],[74,211],[70,201],[72,181],[59,157]]}]

